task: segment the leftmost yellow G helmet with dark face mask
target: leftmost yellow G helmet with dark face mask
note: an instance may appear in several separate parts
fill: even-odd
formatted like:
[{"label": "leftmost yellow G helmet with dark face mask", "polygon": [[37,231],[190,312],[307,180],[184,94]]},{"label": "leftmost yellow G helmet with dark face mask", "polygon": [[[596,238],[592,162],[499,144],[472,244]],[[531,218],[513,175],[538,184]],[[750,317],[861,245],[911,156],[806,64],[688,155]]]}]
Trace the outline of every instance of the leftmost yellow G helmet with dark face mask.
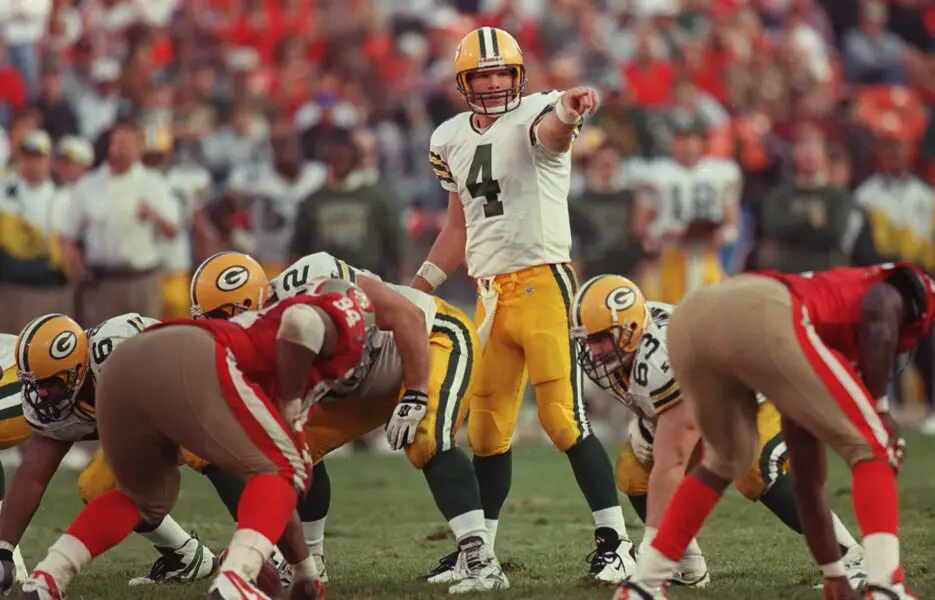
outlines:
[{"label": "leftmost yellow G helmet with dark face mask", "polygon": [[16,373],[24,401],[54,422],[71,414],[88,374],[88,334],[60,314],[37,317],[16,338]]}]

